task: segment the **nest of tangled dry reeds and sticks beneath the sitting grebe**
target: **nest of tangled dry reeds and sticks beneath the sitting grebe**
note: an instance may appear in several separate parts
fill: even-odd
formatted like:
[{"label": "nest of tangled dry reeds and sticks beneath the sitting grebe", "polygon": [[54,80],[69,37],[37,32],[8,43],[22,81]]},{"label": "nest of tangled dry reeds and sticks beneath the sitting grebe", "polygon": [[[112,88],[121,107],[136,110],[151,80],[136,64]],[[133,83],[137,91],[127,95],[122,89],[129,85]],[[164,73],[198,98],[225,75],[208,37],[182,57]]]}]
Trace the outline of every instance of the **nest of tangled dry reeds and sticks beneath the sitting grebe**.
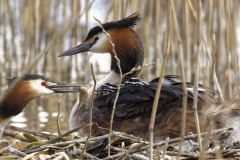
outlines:
[{"label": "nest of tangled dry reeds and sticks beneath the sitting grebe", "polygon": [[[149,159],[149,142],[122,132],[113,132],[110,146],[111,152],[110,156],[108,156],[108,134],[81,138],[72,133],[75,130],[61,136],[55,136],[17,127],[12,127],[12,129],[21,132],[4,131],[4,134],[14,138],[15,142],[10,144],[7,141],[1,141],[0,159],[18,159],[19,157],[23,159]],[[197,135],[184,136],[180,152],[179,141],[181,137],[166,139],[153,144],[153,157],[154,159],[172,159],[177,158],[177,156],[184,159],[198,159],[200,156],[205,159],[237,158],[240,153],[240,143],[236,142],[232,146],[224,144],[224,140],[231,131],[231,128],[214,130],[210,133],[210,137],[206,136],[209,133],[201,133],[202,138],[207,137],[205,139],[207,143],[203,145],[205,151],[201,152],[201,154],[195,140]]]}]

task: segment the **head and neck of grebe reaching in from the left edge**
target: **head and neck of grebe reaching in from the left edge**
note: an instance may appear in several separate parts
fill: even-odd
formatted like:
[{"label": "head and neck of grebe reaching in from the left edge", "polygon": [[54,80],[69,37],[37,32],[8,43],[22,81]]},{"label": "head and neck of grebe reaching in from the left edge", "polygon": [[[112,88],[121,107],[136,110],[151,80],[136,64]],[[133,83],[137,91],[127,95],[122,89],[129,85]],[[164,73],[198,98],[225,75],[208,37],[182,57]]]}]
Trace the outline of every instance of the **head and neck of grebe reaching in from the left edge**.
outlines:
[{"label": "head and neck of grebe reaching in from the left edge", "polygon": [[37,74],[25,74],[19,81],[17,79],[17,77],[8,79],[6,95],[0,102],[0,139],[11,117],[21,113],[31,100],[51,93],[79,92],[78,88],[69,87],[82,86],[58,83]]}]

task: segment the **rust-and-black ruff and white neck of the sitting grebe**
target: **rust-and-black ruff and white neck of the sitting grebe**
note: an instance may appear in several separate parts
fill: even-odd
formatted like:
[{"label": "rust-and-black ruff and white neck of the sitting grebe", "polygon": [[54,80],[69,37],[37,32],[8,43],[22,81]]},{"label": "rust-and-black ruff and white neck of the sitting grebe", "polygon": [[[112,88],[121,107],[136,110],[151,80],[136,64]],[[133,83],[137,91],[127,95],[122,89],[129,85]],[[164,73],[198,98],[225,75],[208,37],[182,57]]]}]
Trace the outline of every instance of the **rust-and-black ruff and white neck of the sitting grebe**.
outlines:
[{"label": "rust-and-black ruff and white neck of the sitting grebe", "polygon": [[[122,74],[126,74],[133,68],[137,68],[143,64],[144,51],[140,37],[131,28],[121,28],[109,31],[112,35],[112,41],[115,45],[115,51],[118,59],[120,60],[120,67]],[[114,36],[118,33],[118,36]],[[120,35],[119,35],[120,34]],[[125,35],[125,36],[124,36]],[[124,38],[123,38],[124,37]],[[104,85],[107,82],[117,84],[120,80],[120,72],[117,66],[117,60],[113,54],[111,54],[111,71],[110,73],[97,82],[96,88]],[[129,74],[122,79],[122,83],[132,77],[138,77],[140,71],[136,71]],[[93,86],[88,89],[88,95],[92,93]]]}]

